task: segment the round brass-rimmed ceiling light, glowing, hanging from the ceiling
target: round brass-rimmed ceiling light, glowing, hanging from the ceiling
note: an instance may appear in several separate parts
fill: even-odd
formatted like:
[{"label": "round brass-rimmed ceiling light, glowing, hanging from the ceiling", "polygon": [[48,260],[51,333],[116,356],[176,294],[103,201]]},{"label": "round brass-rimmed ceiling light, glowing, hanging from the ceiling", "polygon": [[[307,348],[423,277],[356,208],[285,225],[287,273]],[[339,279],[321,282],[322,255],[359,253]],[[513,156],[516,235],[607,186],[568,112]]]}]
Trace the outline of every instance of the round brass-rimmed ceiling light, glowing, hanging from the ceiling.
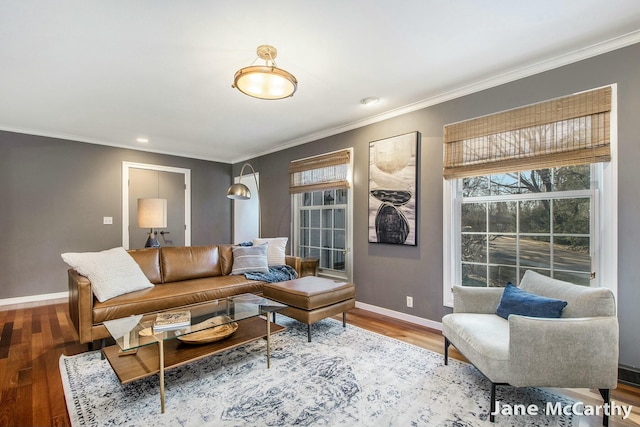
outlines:
[{"label": "round brass-rimmed ceiling light, glowing, hanging from the ceiling", "polygon": [[[265,65],[250,65],[236,72],[231,87],[245,95],[259,99],[282,99],[293,96],[298,88],[298,80],[293,74],[278,68],[274,61],[278,56],[275,47],[258,46],[258,58]],[[254,61],[255,63],[255,61]]]}]

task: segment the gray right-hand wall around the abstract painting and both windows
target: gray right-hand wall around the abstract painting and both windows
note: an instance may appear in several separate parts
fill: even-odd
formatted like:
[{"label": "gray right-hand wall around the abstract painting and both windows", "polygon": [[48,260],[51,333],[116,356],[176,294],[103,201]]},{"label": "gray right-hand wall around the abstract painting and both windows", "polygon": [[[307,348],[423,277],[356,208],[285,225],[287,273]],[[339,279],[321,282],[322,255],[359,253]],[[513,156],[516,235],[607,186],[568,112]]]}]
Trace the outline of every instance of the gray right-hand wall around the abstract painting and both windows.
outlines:
[{"label": "gray right-hand wall around the abstract painting and both windows", "polygon": [[[640,44],[464,96],[433,107],[251,160],[260,172],[263,235],[289,235],[287,167],[291,160],[354,148],[354,282],[357,300],[440,321],[442,305],[442,127],[447,123],[618,83],[620,363],[640,367]],[[370,141],[422,135],[418,246],[370,244],[367,238]],[[237,174],[239,165],[234,166]],[[405,296],[414,308],[405,307]]]}]

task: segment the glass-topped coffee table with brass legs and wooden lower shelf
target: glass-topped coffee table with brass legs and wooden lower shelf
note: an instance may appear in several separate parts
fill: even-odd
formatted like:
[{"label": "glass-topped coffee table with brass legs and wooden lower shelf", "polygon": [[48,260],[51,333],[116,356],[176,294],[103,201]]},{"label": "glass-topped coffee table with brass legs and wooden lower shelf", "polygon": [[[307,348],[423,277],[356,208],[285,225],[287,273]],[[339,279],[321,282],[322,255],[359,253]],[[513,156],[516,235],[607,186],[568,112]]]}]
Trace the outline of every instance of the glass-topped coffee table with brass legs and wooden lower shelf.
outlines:
[{"label": "glass-topped coffee table with brass legs and wooden lower shelf", "polygon": [[[247,298],[248,295],[249,294],[243,294],[241,297]],[[194,318],[192,314],[193,324],[201,321],[206,316],[213,317],[220,315],[220,308],[224,311],[222,314],[231,314],[230,317],[233,321],[238,323],[238,330],[223,340],[207,344],[182,343],[177,339],[178,336],[195,332],[188,330],[186,333],[183,332],[183,330],[163,331],[149,337],[140,337],[140,331],[153,324],[153,318],[151,320],[140,320],[138,322],[134,322],[131,318],[125,318],[105,322],[105,326],[107,326],[110,333],[112,333],[112,330],[116,331],[118,322],[122,325],[125,321],[129,321],[129,323],[135,323],[135,326],[123,336],[118,336],[117,338],[114,336],[117,344],[105,347],[102,351],[122,384],[159,374],[160,409],[161,412],[164,413],[164,374],[167,369],[176,368],[186,363],[231,350],[262,338],[266,338],[267,341],[267,369],[271,367],[271,335],[282,332],[285,328],[271,322],[271,316],[269,316],[269,314],[282,310],[286,306],[262,297],[252,297],[259,298],[263,304],[255,304],[256,307],[251,307],[251,303],[243,302],[243,308],[250,308],[246,311],[240,311],[237,313],[237,316],[236,313],[229,313],[233,310],[228,309],[230,307],[237,308],[238,304],[230,303],[227,300],[219,300],[217,304],[214,305],[208,303],[190,307],[192,313],[196,312],[201,314],[196,318]],[[233,297],[230,297],[229,300],[233,300]],[[236,319],[236,317],[238,317],[238,319]],[[197,321],[194,319],[197,319]],[[123,352],[126,353],[127,351],[135,351],[135,353],[124,355]]]}]

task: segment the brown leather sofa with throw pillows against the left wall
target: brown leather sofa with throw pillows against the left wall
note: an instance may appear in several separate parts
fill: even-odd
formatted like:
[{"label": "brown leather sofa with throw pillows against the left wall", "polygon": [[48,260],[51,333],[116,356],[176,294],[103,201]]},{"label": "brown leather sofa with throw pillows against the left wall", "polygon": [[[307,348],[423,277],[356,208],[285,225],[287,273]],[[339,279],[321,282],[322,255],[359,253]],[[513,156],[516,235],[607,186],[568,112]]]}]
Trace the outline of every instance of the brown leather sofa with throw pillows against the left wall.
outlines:
[{"label": "brown leather sofa with throw pillows against the left wall", "polygon": [[[244,275],[230,276],[233,245],[182,246],[131,250],[154,287],[99,302],[91,282],[70,269],[69,314],[80,343],[109,337],[102,322],[133,314],[150,318],[159,311],[185,308],[242,293],[261,294],[265,282]],[[300,272],[300,258],[287,256],[287,265]]]}]

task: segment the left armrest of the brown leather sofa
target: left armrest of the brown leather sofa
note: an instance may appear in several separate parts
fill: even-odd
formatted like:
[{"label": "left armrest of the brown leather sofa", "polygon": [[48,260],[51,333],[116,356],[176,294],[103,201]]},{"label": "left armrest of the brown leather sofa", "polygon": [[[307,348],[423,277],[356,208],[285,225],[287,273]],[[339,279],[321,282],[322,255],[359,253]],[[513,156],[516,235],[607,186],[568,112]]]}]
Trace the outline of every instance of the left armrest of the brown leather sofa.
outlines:
[{"label": "left armrest of the brown leather sofa", "polygon": [[91,281],[75,270],[68,271],[69,276],[69,317],[76,327],[80,343],[93,341],[93,291]]}]

